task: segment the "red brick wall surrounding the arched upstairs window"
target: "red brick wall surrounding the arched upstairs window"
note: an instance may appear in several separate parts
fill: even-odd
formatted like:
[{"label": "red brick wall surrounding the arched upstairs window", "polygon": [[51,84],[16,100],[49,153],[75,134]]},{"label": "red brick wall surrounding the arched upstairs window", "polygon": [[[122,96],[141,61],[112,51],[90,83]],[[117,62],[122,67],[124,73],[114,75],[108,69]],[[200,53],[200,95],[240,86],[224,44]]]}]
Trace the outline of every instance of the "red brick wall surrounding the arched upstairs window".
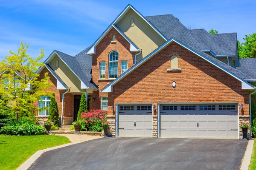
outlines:
[{"label": "red brick wall surrounding the arched upstairs window", "polygon": [[[112,35],[116,34],[116,42],[111,43]],[[93,82],[98,85],[99,90],[104,88],[113,79],[108,79],[108,61],[109,53],[111,51],[117,51],[119,54],[118,59],[118,76],[121,75],[121,61],[128,61],[128,69],[134,65],[134,55],[135,52],[130,51],[130,43],[125,40],[125,38],[112,28],[111,31],[102,39],[102,41],[96,46],[96,54],[93,54],[93,66],[92,75]],[[99,80],[99,62],[105,62],[105,80]],[[94,91],[91,95],[91,109],[100,109],[100,98],[101,96],[108,96],[105,93],[99,91]],[[93,102],[93,97],[95,97],[95,102]]]}]

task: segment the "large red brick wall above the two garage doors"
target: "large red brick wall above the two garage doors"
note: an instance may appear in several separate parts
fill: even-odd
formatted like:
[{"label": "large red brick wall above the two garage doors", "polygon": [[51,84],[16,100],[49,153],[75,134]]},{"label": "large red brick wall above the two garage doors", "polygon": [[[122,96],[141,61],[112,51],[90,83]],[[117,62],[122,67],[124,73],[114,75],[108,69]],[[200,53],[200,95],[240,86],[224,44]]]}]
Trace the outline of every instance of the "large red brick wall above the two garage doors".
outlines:
[{"label": "large red brick wall above the two garage doors", "polygon": [[[173,54],[180,57],[180,73],[167,71]],[[239,102],[244,105],[239,114],[249,115],[249,91],[241,89],[239,80],[175,42],[113,86],[108,114],[114,103],[145,102],[156,105],[156,111],[158,102]]]}]

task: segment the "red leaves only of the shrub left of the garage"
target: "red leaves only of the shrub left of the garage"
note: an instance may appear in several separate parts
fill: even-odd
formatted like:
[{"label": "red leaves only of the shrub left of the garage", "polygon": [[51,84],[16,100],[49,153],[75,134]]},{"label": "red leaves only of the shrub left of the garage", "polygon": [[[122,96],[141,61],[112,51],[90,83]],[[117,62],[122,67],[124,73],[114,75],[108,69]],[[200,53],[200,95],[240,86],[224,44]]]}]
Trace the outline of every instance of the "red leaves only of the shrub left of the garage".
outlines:
[{"label": "red leaves only of the shrub left of the garage", "polygon": [[86,123],[93,123],[98,120],[104,121],[107,116],[107,111],[102,110],[90,110],[88,113],[81,113],[81,118],[84,119]]}]

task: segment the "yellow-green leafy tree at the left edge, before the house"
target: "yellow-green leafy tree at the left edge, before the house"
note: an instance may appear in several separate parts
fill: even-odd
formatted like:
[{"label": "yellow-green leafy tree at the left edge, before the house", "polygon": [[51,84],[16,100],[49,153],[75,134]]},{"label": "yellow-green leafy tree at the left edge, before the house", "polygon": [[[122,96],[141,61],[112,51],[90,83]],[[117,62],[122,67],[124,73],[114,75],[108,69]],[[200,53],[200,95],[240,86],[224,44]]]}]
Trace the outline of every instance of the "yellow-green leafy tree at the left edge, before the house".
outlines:
[{"label": "yellow-green leafy tree at the left edge, before the house", "polygon": [[46,96],[49,92],[44,91],[50,87],[48,74],[39,81],[37,74],[38,67],[44,65],[39,62],[44,57],[44,51],[34,59],[26,54],[29,45],[20,42],[17,53],[9,51],[10,55],[5,56],[0,62],[0,103],[8,102],[10,107],[9,115],[16,117],[26,116],[35,120],[35,111],[38,107],[34,102],[40,100],[40,96]]}]

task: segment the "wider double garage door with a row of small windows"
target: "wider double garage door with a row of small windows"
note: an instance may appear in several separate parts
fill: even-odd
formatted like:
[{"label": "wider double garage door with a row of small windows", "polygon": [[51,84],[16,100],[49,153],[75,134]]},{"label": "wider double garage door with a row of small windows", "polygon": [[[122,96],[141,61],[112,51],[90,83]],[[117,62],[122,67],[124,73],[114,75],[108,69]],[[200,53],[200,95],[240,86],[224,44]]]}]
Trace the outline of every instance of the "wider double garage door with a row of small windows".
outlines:
[{"label": "wider double garage door with a row of small windows", "polygon": [[238,139],[237,104],[160,105],[160,137]]}]

